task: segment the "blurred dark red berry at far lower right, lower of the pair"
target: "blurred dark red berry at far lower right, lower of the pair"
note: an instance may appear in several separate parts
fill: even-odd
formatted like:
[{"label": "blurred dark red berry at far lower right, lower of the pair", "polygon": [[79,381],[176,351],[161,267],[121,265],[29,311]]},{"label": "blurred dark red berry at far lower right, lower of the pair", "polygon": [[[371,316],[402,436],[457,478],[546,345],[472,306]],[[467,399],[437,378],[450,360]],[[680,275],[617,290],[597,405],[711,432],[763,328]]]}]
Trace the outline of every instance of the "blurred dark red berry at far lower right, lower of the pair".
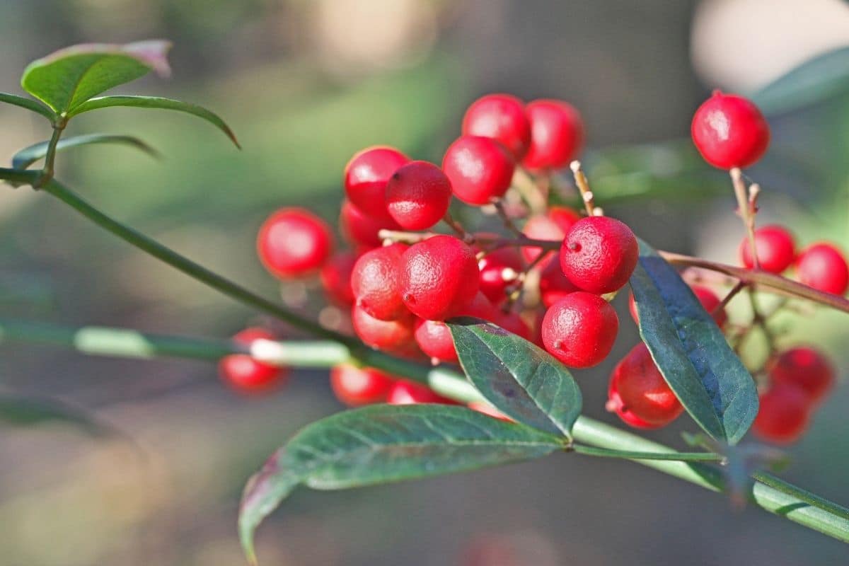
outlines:
[{"label": "blurred dark red berry at far lower right, lower of the pair", "polygon": [[774,384],[761,395],[761,406],[751,429],[767,442],[790,444],[805,432],[810,416],[811,404],[804,391]]}]

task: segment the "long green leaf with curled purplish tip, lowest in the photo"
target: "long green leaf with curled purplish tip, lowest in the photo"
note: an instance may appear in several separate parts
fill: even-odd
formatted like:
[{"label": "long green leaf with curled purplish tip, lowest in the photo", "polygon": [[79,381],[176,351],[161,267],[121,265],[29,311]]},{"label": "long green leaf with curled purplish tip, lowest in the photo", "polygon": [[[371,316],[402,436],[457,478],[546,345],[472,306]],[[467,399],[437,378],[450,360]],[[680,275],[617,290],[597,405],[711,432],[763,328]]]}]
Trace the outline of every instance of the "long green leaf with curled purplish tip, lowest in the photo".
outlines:
[{"label": "long green leaf with curled purplish tip, lowest in the photo", "polygon": [[245,486],[239,536],[256,562],[256,527],[298,485],[340,490],[545,456],[563,440],[463,406],[375,405],[312,423]]}]

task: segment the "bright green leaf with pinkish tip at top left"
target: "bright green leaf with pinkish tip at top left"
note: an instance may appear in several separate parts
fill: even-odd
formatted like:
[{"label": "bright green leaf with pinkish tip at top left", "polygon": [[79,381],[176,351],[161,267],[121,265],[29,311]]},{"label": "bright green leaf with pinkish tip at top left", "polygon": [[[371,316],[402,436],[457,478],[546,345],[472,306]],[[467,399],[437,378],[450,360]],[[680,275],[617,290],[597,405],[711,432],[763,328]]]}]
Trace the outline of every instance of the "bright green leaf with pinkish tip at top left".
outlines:
[{"label": "bright green leaf with pinkish tip at top left", "polygon": [[168,76],[171,70],[166,55],[170,48],[170,42],[159,40],[75,45],[33,61],[24,70],[20,85],[57,114],[70,114],[89,98],[151,70]]}]

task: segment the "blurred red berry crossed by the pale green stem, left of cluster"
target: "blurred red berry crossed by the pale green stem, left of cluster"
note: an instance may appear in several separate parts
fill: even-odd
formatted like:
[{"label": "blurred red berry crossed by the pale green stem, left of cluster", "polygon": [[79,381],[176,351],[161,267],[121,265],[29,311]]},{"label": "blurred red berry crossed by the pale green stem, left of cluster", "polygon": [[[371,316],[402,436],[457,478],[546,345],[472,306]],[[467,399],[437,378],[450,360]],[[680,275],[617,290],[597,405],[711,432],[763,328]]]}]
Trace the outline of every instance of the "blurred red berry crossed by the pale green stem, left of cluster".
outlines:
[{"label": "blurred red berry crossed by the pale green stem, left of cluster", "polygon": [[[275,336],[265,328],[245,328],[235,336],[233,341],[250,346],[255,340],[273,340]],[[282,384],[289,369],[272,366],[256,361],[248,354],[231,354],[222,357],[218,362],[218,371],[222,379],[240,393],[262,393],[274,386]]]}]

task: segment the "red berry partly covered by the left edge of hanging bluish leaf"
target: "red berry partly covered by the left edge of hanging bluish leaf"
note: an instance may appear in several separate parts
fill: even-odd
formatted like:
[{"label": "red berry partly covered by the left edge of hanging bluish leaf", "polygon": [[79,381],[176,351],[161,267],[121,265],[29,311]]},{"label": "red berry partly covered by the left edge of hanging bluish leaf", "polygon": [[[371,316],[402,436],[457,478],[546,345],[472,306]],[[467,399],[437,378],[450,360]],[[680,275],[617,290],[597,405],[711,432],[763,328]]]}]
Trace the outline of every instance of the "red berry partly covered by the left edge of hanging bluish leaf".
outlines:
[{"label": "red berry partly covered by the left edge of hanging bluish leaf", "polygon": [[666,384],[642,342],[616,364],[610,375],[608,409],[638,428],[658,428],[683,412],[681,401]]}]

